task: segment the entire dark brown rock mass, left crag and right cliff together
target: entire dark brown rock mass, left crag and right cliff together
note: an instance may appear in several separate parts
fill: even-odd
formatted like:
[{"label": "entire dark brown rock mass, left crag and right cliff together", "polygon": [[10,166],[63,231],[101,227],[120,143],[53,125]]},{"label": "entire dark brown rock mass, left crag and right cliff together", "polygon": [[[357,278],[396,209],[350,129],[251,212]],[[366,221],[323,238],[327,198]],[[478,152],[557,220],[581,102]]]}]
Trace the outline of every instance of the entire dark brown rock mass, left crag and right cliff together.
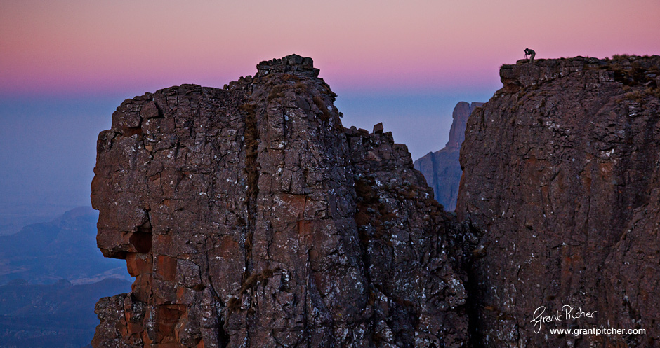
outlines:
[{"label": "entire dark brown rock mass, left crag and right cliff together", "polygon": [[135,281],[93,347],[657,347],[659,56],[503,65],[447,144],[456,217],[310,58],[257,71],[100,133],[98,246]]}]

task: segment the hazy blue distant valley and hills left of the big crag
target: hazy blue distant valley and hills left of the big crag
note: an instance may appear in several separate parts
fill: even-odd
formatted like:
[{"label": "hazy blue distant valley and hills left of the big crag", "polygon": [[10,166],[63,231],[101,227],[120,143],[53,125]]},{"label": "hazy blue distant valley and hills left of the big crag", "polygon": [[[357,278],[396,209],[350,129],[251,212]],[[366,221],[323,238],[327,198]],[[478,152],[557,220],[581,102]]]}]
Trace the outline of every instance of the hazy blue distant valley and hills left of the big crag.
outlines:
[{"label": "hazy blue distant valley and hills left of the big crag", "polygon": [[97,218],[79,207],[0,236],[0,347],[84,347],[98,298],[131,291],[124,262],[96,248]]}]

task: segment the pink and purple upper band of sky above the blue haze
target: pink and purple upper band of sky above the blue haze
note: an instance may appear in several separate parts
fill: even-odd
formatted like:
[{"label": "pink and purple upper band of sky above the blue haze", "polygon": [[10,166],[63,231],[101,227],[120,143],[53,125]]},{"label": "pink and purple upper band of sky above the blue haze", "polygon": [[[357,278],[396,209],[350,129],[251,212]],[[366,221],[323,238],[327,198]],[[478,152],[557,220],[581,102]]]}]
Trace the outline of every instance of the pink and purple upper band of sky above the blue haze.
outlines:
[{"label": "pink and purple upper band of sky above the blue haze", "polygon": [[0,1],[0,95],[221,87],[310,56],[335,90],[499,87],[537,57],[660,54],[659,0]]}]

